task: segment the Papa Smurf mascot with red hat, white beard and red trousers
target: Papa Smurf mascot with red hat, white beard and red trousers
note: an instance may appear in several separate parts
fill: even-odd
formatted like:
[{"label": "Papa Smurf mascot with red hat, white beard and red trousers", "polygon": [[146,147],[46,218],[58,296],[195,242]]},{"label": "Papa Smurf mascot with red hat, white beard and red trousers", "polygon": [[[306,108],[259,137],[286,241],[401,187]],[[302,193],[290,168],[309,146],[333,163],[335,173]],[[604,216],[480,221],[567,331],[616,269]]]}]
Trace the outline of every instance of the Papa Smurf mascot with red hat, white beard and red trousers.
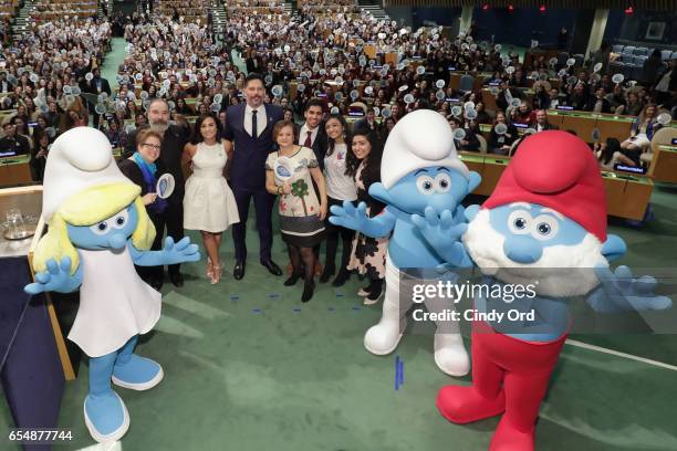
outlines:
[{"label": "Papa Smurf mascot with red hat, white beard and red trousers", "polygon": [[442,388],[437,407],[456,423],[502,413],[490,450],[533,450],[539,407],[569,331],[567,298],[585,295],[597,312],[663,310],[671,301],[653,294],[653,277],[633,279],[626,266],[610,270],[625,243],[606,234],[597,161],[573,135],[542,132],[524,139],[492,195],[466,216],[460,248],[445,218],[419,216],[415,222],[445,260],[455,266],[475,262],[492,287],[538,280],[530,303],[510,306],[501,296],[478,295],[476,311],[531,308],[537,315],[510,322],[508,329],[475,321],[472,386]]}]

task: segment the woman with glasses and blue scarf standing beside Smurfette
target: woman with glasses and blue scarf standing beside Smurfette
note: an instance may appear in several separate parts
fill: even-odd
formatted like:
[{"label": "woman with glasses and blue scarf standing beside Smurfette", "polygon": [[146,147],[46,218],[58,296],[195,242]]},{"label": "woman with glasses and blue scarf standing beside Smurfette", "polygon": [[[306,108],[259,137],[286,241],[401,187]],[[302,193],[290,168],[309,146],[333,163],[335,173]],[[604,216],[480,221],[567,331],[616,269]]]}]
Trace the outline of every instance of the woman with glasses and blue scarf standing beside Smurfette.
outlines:
[{"label": "woman with glasses and blue scarf standing beside Smurfette", "polygon": [[[150,128],[136,134],[136,151],[127,159],[119,161],[119,170],[142,189],[142,201],[156,230],[163,230],[166,222],[167,201],[157,197],[157,180],[167,172],[163,160],[158,159],[163,136]],[[154,251],[163,249],[163,234],[158,233],[153,241]],[[136,272],[155,290],[163,286],[163,266],[136,266]]]}]

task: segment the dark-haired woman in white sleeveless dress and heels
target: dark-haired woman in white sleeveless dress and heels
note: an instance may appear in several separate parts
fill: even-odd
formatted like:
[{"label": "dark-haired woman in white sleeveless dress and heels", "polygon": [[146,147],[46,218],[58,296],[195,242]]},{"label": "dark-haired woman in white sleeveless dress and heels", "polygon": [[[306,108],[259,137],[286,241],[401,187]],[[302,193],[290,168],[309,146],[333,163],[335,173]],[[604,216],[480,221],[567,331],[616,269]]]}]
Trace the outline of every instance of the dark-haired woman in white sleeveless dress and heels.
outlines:
[{"label": "dark-haired woman in white sleeveless dress and heels", "polygon": [[195,137],[184,148],[183,162],[190,164],[192,175],[186,180],[184,229],[199,230],[207,250],[207,277],[216,284],[223,266],[219,259],[221,235],[230,224],[240,222],[238,206],[223,177],[228,159],[221,136],[221,124],[213,114],[195,124]]}]

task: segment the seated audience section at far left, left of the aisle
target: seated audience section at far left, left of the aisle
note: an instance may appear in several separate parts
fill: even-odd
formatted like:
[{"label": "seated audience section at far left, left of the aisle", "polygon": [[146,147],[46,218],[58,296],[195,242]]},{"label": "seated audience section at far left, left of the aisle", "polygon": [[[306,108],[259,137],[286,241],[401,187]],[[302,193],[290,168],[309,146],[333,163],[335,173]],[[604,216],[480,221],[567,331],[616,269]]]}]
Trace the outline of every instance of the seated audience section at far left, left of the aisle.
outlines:
[{"label": "seated audience section at far left, left of the aisle", "polygon": [[37,180],[45,146],[77,125],[87,125],[83,93],[95,92],[110,50],[107,22],[74,17],[34,22],[0,50],[0,113],[4,138],[30,153]]}]

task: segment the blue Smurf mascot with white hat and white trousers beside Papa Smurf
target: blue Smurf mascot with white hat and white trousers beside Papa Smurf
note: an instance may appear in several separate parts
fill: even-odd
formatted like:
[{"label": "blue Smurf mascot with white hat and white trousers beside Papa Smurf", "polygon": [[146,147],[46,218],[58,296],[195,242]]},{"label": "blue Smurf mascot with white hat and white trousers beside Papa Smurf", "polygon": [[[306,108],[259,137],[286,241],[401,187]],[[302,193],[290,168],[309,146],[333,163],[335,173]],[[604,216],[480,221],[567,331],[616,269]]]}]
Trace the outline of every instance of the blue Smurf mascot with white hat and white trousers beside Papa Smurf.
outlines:
[{"label": "blue Smurf mascot with white hat and white trousers beside Papa Smurf", "polygon": [[[345,202],[343,207],[332,207],[330,221],[374,238],[393,233],[386,262],[383,315],[364,337],[367,350],[386,355],[397,347],[406,327],[405,315],[413,304],[409,295],[399,298],[400,269],[436,269],[452,259],[449,255],[440,258],[413,222],[413,216],[441,217],[445,239],[459,248],[460,265],[465,252],[459,238],[467,224],[459,203],[479,185],[480,176],[470,172],[458,158],[447,120],[436,112],[421,109],[407,114],[390,132],[381,178],[381,183],[372,185],[369,195],[386,203],[382,214],[369,219],[363,203],[354,208]],[[428,298],[425,303],[430,312],[452,305],[439,298]],[[437,323],[435,363],[448,375],[462,376],[469,371],[468,354],[460,334],[442,331],[444,323]],[[450,322],[446,323],[448,326]]]}]

